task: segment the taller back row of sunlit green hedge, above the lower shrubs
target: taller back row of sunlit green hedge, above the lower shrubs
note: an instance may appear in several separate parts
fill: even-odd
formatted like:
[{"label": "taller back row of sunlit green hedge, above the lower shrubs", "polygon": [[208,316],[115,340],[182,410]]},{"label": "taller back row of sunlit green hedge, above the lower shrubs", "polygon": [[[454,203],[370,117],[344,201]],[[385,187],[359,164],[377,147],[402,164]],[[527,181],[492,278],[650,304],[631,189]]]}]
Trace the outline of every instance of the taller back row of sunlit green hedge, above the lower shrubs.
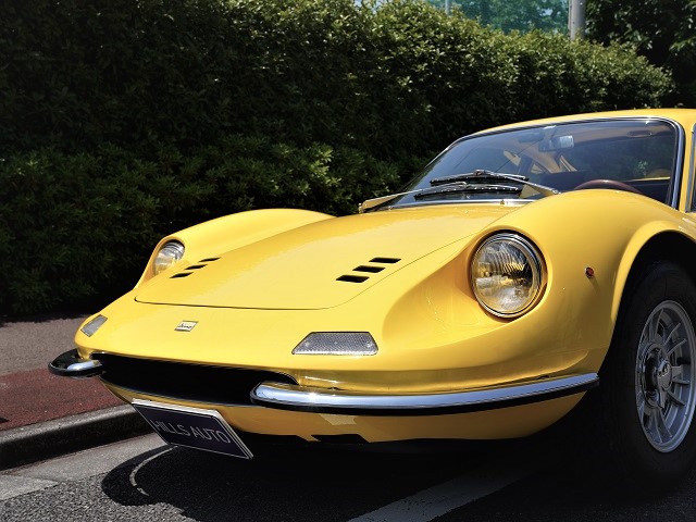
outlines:
[{"label": "taller back row of sunlit green hedge, above the lower shrubs", "polygon": [[418,1],[5,0],[0,150],[151,154],[220,135],[384,160],[527,116],[657,105],[626,49],[504,35]]}]

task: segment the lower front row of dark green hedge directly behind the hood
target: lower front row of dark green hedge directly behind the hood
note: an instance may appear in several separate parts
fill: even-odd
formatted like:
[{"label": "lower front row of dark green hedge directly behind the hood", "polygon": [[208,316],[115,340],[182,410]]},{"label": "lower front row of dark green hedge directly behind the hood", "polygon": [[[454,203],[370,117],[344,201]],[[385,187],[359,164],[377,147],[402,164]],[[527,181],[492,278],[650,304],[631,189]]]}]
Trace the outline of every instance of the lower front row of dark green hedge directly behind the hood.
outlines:
[{"label": "lower front row of dark green hedge directly behind the hood", "polygon": [[165,233],[253,208],[349,213],[395,183],[394,165],[356,149],[266,137],[148,161],[111,145],[18,153],[0,162],[0,310],[95,307],[135,284]]}]

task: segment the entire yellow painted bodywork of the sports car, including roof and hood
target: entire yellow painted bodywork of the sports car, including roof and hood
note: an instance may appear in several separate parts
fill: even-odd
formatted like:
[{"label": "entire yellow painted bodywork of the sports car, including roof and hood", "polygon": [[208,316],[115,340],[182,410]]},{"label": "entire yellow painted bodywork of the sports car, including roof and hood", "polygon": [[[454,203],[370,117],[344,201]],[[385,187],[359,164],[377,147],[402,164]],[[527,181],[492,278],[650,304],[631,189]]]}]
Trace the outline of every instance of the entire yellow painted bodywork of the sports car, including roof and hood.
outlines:
[{"label": "entire yellow painted bodywork of the sports car, including roof and hood", "polygon": [[[293,391],[297,386],[348,397],[527,389],[596,376],[639,253],[663,235],[696,241],[696,221],[686,212],[696,111],[575,115],[484,133],[622,119],[681,124],[681,163],[671,173],[681,181],[674,204],[605,189],[414,202],[343,217],[297,210],[222,217],[163,238],[138,285],[99,313],[107,320],[98,332],[77,332],[77,355],[85,361],[107,353],[272,372],[287,376]],[[556,147],[561,154],[568,145]],[[544,167],[540,159],[538,165]],[[499,233],[526,238],[542,258],[539,295],[519,315],[490,313],[472,287],[475,253]],[[159,249],[173,240],[185,245],[184,258],[154,275]],[[316,332],[369,333],[378,350],[294,353]],[[125,401],[214,409],[241,432],[307,440],[524,436],[566,415],[585,389],[476,411],[381,415],[198,401],[132,389],[109,382],[108,374],[104,381]]]}]

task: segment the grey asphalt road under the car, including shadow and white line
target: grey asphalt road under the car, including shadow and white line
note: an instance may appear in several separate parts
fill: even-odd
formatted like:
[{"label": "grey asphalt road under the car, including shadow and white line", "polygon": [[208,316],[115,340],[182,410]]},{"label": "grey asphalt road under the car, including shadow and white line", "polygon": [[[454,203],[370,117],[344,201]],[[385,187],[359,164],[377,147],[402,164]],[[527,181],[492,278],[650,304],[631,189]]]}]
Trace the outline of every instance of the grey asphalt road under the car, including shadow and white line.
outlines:
[{"label": "grey asphalt road under the car, including shadow and white line", "polygon": [[3,522],[666,522],[694,513],[696,473],[654,499],[617,497],[538,442],[438,455],[268,450],[243,461],[148,435],[0,473]]}]

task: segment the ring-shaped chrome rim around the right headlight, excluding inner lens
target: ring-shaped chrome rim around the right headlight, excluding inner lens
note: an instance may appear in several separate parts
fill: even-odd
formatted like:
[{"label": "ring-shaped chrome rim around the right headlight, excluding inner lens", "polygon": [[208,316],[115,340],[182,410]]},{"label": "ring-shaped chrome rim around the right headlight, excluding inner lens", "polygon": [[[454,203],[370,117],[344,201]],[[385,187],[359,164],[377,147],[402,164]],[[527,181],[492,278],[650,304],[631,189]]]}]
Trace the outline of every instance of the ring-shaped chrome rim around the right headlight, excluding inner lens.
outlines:
[{"label": "ring-shaped chrome rim around the right headlight, excluding inner lens", "polygon": [[[487,298],[481,291],[481,285],[476,282],[477,265],[485,250],[494,244],[508,244],[519,250],[529,263],[531,271],[530,293],[526,299],[518,307],[504,309],[492,304],[492,299]],[[546,287],[546,264],[539,249],[530,239],[517,232],[497,232],[481,241],[476,248],[470,263],[470,284],[474,297],[478,304],[490,314],[504,318],[514,319],[524,315],[531,311],[540,300]]]}]

